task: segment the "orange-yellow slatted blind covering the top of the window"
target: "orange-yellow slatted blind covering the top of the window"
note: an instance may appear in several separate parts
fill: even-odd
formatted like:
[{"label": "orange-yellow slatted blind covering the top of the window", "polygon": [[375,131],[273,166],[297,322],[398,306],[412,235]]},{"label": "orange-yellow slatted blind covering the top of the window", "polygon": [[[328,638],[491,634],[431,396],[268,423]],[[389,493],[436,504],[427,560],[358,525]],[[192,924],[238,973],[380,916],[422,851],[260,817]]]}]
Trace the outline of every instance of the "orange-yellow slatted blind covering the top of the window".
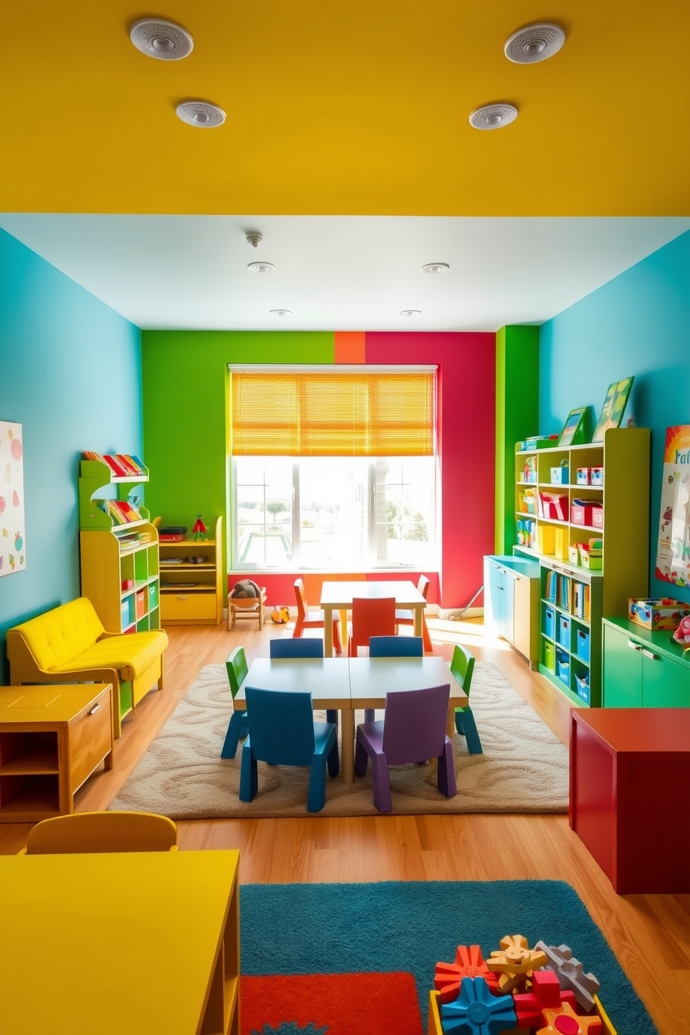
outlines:
[{"label": "orange-yellow slatted blind covering the top of the window", "polygon": [[433,374],[232,374],[232,452],[428,456]]}]

